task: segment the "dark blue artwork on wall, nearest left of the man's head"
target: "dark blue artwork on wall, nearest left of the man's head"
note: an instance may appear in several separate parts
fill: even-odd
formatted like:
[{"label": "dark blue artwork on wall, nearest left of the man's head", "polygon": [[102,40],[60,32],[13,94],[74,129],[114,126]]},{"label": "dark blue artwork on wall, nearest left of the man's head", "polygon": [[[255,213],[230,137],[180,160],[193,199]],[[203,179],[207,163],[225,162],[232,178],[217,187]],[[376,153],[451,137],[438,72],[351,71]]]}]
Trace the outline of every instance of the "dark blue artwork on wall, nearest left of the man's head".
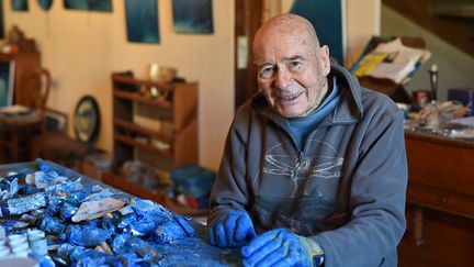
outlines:
[{"label": "dark blue artwork on wall, nearest left of the man's head", "polygon": [[211,0],[173,0],[173,26],[177,33],[213,33]]}]

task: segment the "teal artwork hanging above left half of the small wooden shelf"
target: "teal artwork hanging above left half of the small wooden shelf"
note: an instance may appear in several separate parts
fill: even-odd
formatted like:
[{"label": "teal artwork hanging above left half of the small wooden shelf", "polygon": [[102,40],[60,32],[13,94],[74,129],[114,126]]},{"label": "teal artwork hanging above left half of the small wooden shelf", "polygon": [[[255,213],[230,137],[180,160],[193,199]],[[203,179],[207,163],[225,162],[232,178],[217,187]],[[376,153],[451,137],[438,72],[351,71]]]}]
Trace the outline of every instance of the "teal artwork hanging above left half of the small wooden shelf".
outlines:
[{"label": "teal artwork hanging above left half of the small wooden shelf", "polygon": [[157,0],[125,0],[128,42],[159,43]]}]

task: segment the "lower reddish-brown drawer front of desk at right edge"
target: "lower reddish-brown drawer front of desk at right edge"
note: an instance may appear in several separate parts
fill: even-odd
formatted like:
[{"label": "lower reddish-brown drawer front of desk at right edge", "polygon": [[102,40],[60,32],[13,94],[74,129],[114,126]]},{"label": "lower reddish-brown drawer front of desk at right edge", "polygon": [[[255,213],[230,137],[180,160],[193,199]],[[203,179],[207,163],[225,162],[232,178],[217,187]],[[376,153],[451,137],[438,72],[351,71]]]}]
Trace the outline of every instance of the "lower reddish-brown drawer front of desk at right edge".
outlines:
[{"label": "lower reddish-brown drawer front of desk at right edge", "polygon": [[408,185],[409,203],[474,219],[474,196],[453,193],[436,187]]}]

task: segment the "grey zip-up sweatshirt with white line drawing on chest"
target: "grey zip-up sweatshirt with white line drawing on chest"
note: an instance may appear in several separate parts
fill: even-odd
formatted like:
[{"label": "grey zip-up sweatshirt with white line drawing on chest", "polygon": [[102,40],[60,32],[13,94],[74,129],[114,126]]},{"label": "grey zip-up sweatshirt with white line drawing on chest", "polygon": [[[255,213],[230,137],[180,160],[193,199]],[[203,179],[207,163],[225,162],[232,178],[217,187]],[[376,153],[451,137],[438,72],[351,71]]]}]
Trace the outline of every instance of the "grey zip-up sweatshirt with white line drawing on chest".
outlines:
[{"label": "grey zip-up sweatshirt with white line drawing on chest", "polygon": [[325,266],[396,266],[405,232],[403,113],[332,64],[339,103],[297,148],[289,121],[257,93],[230,126],[211,194],[212,224],[246,210],[257,232],[316,241]]}]

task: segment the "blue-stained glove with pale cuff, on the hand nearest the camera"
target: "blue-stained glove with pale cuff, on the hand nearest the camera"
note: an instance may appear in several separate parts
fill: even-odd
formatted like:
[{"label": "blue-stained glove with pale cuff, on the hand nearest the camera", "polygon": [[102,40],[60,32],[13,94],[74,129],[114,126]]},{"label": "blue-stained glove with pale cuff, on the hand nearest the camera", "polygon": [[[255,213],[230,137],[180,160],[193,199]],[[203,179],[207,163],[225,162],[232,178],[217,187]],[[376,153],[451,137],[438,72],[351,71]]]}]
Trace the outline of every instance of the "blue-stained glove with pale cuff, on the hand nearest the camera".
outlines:
[{"label": "blue-stained glove with pale cuff, on the hand nearest the camera", "polygon": [[255,237],[241,254],[244,266],[319,266],[324,260],[324,252],[315,241],[285,229]]}]

